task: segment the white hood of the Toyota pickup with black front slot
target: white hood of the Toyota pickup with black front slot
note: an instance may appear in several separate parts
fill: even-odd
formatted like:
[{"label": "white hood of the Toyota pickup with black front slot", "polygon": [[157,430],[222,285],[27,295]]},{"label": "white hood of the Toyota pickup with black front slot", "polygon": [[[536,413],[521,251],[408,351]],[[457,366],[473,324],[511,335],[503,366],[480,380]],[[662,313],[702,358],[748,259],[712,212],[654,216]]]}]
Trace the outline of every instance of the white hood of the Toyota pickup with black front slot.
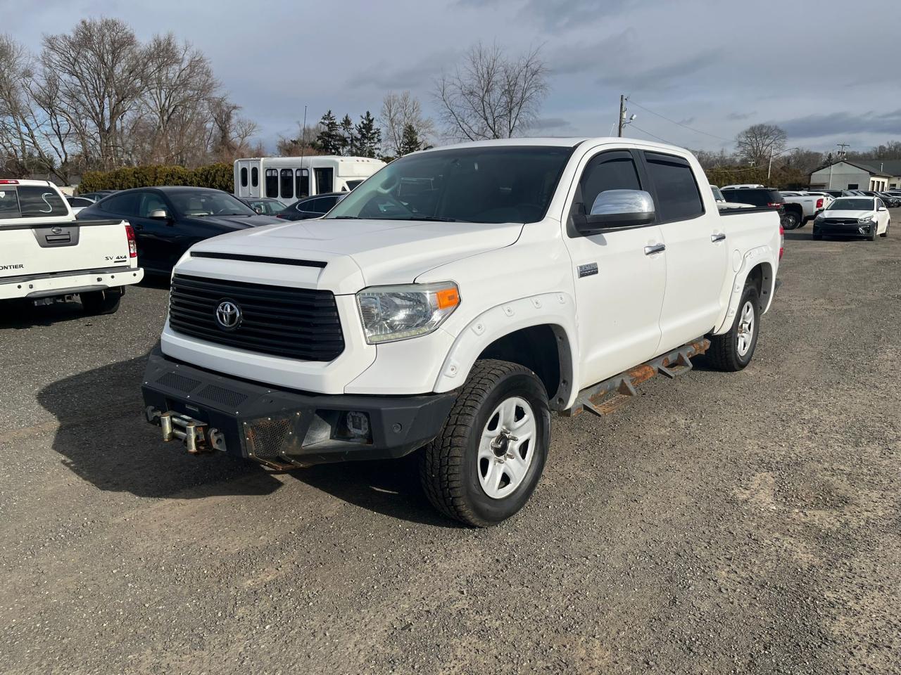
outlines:
[{"label": "white hood of the Toyota pickup with black front slot", "polygon": [[[410,284],[433,267],[510,246],[523,231],[523,223],[323,219],[278,222],[281,224],[205,239],[191,250],[325,263],[315,287],[341,294],[356,293],[365,286]],[[184,262],[187,265],[187,260]],[[358,274],[351,274],[350,263],[359,269]],[[179,264],[177,271],[182,271],[182,267]],[[309,285],[293,283],[298,278],[298,267],[284,267],[287,284]],[[196,274],[201,274],[199,268]]]}]

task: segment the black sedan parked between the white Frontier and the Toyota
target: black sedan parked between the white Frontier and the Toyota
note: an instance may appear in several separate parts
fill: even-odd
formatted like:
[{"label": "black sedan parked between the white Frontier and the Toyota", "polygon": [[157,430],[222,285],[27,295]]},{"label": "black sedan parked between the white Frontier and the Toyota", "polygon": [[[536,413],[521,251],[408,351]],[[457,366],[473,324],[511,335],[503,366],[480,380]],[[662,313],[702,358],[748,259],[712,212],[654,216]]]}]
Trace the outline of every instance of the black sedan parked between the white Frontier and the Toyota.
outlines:
[{"label": "black sedan parked between the white Frontier and the Toyota", "polygon": [[168,274],[192,244],[236,229],[270,225],[241,200],[206,187],[138,187],[111,194],[77,215],[78,220],[119,218],[134,228],[141,265]]}]

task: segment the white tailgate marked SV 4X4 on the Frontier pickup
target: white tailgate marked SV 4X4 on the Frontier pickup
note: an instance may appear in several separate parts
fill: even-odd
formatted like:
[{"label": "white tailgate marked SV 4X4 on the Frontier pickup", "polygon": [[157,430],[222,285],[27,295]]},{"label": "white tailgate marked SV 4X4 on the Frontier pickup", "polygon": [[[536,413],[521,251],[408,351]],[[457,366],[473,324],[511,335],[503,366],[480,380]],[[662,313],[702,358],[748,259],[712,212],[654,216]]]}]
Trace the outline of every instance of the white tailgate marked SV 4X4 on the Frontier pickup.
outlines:
[{"label": "white tailgate marked SV 4X4 on the Frontier pickup", "polygon": [[0,280],[129,266],[123,220],[0,225]]}]

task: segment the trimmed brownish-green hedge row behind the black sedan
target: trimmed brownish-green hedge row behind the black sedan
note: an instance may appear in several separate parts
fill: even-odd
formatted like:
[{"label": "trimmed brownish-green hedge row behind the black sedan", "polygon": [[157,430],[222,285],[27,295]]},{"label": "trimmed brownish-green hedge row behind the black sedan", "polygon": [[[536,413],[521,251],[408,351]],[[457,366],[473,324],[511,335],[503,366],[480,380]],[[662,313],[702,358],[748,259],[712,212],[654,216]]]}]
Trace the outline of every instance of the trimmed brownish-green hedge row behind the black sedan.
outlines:
[{"label": "trimmed brownish-green hedge row behind the black sedan", "polygon": [[86,171],[78,184],[79,193],[96,190],[127,190],[149,185],[195,185],[234,192],[231,164],[210,164],[188,169],[184,166],[123,166],[113,171]]}]

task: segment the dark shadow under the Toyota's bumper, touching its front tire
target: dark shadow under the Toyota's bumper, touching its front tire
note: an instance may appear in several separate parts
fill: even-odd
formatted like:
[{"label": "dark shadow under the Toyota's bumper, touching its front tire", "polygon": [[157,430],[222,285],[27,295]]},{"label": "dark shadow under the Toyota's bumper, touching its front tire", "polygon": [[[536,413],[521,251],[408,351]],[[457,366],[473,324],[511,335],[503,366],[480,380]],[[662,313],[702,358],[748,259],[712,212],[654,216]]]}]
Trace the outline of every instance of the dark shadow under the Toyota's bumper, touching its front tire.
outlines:
[{"label": "dark shadow under the Toyota's bumper, touching its front tire", "polygon": [[416,455],[378,462],[321,464],[289,475],[360,509],[390,518],[435,527],[463,527],[442,517],[425,497]]}]

